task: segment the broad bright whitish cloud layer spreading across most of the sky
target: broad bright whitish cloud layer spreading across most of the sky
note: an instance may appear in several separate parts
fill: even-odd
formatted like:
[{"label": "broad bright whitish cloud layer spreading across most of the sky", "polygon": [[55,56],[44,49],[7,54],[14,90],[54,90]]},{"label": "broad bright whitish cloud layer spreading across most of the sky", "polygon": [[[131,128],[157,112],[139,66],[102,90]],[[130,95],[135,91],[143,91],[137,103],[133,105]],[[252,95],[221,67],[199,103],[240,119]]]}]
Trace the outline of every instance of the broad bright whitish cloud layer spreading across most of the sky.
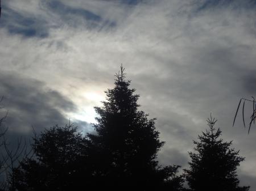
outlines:
[{"label": "broad bright whitish cloud layer spreading across most of the sky", "polygon": [[[24,38],[0,28],[3,71],[38,79],[68,96],[79,107],[73,116],[81,120],[100,104],[104,90],[113,87],[114,73],[123,63],[141,95],[142,109],[158,118],[156,125],[167,142],[162,153],[179,148],[185,155],[212,112],[224,139],[234,139],[233,146],[246,156],[241,171],[256,176],[250,168],[255,162],[255,128],[249,137],[239,123],[232,128],[238,99],[255,93],[256,15],[247,1],[245,6],[202,10],[198,7],[204,1],[148,1],[137,6],[61,1],[100,16],[94,28],[75,14],[73,21],[80,25],[72,26],[72,20],[65,22],[42,2],[47,1],[6,4],[20,14],[47,20],[49,36]],[[106,20],[115,25],[105,25]],[[86,94],[95,95],[95,100]]]}]

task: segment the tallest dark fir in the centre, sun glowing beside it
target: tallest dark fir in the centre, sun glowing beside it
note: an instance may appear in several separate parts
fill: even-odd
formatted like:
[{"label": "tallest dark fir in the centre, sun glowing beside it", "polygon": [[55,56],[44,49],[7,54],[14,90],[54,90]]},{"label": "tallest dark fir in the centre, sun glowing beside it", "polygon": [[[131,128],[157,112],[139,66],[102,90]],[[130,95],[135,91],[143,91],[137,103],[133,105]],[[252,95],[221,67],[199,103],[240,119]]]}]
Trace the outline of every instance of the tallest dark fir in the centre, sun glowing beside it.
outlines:
[{"label": "tallest dark fir in the centre, sun glowing beside it", "polygon": [[[156,154],[164,142],[159,140],[155,118],[148,119],[148,114],[138,111],[139,95],[129,87],[131,81],[125,80],[124,70],[121,66],[114,88],[105,91],[103,106],[95,107],[99,115],[93,124],[97,134],[88,134],[94,151],[96,185],[115,190],[157,190],[163,182],[171,182],[167,179],[177,168],[158,166]],[[181,185],[182,179],[175,180]]]}]

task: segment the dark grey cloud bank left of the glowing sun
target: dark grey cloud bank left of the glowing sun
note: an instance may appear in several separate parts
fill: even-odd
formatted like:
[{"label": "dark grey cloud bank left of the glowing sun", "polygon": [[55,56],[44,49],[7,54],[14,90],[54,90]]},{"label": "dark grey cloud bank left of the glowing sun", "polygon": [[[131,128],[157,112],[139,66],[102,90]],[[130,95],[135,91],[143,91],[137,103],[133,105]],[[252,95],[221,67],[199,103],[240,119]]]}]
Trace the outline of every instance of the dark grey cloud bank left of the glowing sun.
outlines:
[{"label": "dark grey cloud bank left of the glowing sun", "polygon": [[[5,124],[14,134],[31,133],[31,126],[36,131],[42,131],[55,124],[65,125],[68,116],[64,112],[75,112],[77,109],[71,100],[48,89],[44,83],[16,73],[1,73],[0,92],[4,96],[2,105],[8,111]],[[5,110],[1,112],[3,116]],[[75,121],[77,124],[81,129],[88,128],[86,122]]]}]

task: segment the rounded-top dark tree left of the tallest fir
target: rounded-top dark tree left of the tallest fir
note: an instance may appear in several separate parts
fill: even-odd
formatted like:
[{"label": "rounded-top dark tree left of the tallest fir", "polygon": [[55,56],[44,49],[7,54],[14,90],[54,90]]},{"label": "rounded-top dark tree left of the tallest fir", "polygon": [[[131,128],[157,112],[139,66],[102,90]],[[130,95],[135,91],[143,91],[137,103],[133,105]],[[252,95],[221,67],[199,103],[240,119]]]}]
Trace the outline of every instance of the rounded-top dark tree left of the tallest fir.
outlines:
[{"label": "rounded-top dark tree left of the tallest fir", "polygon": [[35,134],[34,158],[27,158],[13,172],[15,188],[19,191],[79,190],[88,177],[86,142],[72,124],[56,125],[39,136]]}]

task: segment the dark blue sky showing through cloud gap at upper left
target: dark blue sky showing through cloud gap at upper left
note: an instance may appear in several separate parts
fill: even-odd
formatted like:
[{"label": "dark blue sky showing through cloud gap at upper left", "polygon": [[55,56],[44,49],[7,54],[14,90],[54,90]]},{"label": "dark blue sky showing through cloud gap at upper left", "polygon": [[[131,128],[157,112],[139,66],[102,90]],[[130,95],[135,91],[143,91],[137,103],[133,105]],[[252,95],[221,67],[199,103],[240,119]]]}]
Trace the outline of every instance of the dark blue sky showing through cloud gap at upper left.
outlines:
[{"label": "dark blue sky showing through cloud gap at upper left", "polygon": [[[103,19],[100,15],[94,14],[89,10],[67,6],[60,1],[49,1],[44,6],[46,6],[44,7],[46,10],[60,16],[61,20],[58,20],[60,23],[56,23],[56,26],[68,24],[77,28],[86,24],[88,29],[98,28],[99,30],[116,26],[115,22]],[[23,14],[4,6],[2,7],[0,27],[6,28],[13,35],[44,38],[49,35],[49,28],[53,26],[50,27],[48,21],[44,18],[27,13]]]}]

